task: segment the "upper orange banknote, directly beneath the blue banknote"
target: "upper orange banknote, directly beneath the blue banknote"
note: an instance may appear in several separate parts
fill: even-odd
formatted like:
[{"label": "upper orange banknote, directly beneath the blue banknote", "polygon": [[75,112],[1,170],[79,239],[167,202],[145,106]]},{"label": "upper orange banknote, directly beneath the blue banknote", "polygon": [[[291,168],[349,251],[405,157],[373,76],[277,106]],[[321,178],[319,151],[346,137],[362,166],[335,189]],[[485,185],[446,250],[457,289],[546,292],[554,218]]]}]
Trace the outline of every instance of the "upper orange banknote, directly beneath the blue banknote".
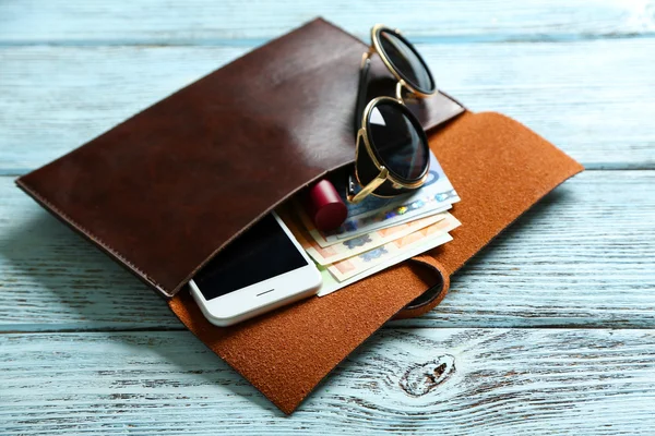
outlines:
[{"label": "upper orange banknote, directly beneath the blue banknote", "polygon": [[298,220],[295,219],[291,210],[282,210],[278,213],[278,215],[291,230],[291,233],[294,233],[296,240],[300,242],[305,251],[314,259],[314,262],[319,265],[329,265],[338,261],[343,261],[347,257],[353,257],[357,254],[368,252],[369,250],[384,245],[388,242],[403,238],[409,233],[414,233],[417,230],[445,219],[450,214],[443,213],[431,215],[426,218],[404,222],[386,229],[374,230],[370,233],[362,234],[347,241],[341,241],[337,244],[326,247],[322,247],[311,237],[309,231],[305,229],[302,225],[298,223]]}]

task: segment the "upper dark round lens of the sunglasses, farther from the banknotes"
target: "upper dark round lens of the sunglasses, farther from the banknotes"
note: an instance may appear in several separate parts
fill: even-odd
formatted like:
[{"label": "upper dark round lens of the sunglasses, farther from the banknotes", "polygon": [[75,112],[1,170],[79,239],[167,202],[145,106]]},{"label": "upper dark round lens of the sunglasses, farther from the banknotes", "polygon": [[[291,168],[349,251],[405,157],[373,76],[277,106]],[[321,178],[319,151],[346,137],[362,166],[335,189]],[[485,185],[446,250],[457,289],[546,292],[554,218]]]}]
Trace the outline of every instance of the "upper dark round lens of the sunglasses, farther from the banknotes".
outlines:
[{"label": "upper dark round lens of the sunglasses, farther from the banknotes", "polygon": [[388,29],[380,31],[379,41],[383,55],[408,85],[425,94],[434,92],[436,85],[430,70],[414,46]]}]

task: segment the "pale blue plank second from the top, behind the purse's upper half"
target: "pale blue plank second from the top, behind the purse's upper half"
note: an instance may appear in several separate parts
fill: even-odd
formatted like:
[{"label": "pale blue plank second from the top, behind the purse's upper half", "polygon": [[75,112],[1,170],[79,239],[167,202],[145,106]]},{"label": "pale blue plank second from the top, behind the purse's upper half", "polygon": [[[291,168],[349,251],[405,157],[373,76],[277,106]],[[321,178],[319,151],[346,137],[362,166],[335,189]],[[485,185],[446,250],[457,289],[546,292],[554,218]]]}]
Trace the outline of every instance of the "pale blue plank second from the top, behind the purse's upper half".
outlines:
[{"label": "pale blue plank second from the top, behind the purse's upper half", "polygon": [[[0,48],[0,170],[46,164],[249,49]],[[644,62],[655,39],[420,50],[443,89],[516,118],[587,168],[655,168],[655,62]]]}]

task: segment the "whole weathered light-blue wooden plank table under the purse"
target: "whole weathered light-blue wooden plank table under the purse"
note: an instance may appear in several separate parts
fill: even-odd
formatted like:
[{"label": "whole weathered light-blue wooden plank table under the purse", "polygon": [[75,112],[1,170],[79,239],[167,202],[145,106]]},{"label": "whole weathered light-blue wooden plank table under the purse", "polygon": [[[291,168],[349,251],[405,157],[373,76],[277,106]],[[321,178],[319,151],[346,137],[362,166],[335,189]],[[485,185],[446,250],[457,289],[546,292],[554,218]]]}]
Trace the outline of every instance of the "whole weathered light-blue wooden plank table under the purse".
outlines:
[{"label": "whole weathered light-blue wooden plank table under the purse", "polygon": [[[655,433],[653,1],[179,3],[0,1],[0,434]],[[284,417],[13,181],[315,15],[587,171]]]}]

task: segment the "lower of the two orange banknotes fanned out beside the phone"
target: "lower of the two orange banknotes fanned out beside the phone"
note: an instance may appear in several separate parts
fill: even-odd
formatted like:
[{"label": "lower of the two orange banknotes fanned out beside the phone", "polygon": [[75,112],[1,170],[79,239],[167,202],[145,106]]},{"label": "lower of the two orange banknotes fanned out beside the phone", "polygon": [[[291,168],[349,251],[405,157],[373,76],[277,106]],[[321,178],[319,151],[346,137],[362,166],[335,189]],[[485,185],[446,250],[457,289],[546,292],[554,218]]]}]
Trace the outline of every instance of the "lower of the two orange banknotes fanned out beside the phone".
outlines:
[{"label": "lower of the two orange banknotes fanned out beside the phone", "polygon": [[398,238],[384,245],[369,250],[368,252],[327,265],[327,270],[338,281],[347,280],[369,268],[385,263],[390,258],[402,256],[403,253],[413,253],[413,249],[416,246],[421,246],[432,240],[440,240],[442,235],[457,228],[460,225],[461,222],[449,214],[441,221],[427,226],[403,238]]}]

